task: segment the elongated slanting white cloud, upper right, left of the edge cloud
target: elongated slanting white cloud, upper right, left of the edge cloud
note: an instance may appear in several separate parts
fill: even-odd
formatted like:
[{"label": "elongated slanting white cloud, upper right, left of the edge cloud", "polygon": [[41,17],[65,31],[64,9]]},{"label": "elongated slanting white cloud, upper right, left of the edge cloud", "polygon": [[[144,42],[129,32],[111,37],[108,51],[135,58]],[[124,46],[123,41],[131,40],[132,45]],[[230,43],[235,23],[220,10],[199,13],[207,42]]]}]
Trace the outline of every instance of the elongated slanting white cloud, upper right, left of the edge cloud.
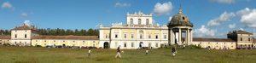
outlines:
[{"label": "elongated slanting white cloud, upper right, left of the edge cloud", "polygon": [[218,25],[220,25],[220,23],[228,21],[235,16],[236,16],[236,14],[234,14],[234,13],[224,12],[223,14],[220,14],[218,18],[210,20],[207,23],[207,26],[218,26]]}]

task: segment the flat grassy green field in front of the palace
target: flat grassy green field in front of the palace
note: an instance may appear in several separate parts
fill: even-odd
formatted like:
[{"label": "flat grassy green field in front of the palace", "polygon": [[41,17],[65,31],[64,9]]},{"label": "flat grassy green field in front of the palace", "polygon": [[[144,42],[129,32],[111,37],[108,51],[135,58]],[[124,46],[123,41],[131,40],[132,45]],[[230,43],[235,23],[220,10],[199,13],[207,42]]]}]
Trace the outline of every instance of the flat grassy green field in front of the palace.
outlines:
[{"label": "flat grassy green field in front of the palace", "polygon": [[152,49],[146,55],[145,50],[124,50],[121,59],[115,59],[115,49],[92,49],[91,57],[87,57],[88,49],[47,49],[37,47],[0,47],[1,63],[241,63],[256,62],[255,49],[243,50],[207,50],[178,49],[172,57],[171,49]]}]

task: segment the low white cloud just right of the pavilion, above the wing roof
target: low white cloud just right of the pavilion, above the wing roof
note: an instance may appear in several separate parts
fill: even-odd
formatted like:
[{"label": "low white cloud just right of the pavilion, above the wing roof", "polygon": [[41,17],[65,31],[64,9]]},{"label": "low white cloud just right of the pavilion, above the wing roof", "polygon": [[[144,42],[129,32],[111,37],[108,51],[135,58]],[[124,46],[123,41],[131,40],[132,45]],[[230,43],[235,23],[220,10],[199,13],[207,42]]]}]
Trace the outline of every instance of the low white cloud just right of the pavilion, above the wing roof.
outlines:
[{"label": "low white cloud just right of the pavilion, above the wing roof", "polygon": [[216,30],[211,30],[206,26],[201,26],[199,29],[195,29],[195,37],[215,37]]}]

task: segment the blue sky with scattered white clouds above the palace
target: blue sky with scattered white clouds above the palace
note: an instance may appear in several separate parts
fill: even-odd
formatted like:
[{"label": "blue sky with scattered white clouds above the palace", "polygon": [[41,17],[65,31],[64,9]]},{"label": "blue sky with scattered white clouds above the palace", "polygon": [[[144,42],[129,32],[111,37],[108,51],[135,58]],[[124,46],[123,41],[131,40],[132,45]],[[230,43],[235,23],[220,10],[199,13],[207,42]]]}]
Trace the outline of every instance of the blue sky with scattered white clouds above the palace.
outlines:
[{"label": "blue sky with scattered white clouds above the palace", "polygon": [[[256,0],[0,0],[0,29],[22,23],[40,28],[88,29],[125,23],[125,14],[154,14],[166,25],[183,13],[195,25],[195,37],[226,37],[233,30],[256,33]],[[255,36],[256,34],[254,34]]]}]

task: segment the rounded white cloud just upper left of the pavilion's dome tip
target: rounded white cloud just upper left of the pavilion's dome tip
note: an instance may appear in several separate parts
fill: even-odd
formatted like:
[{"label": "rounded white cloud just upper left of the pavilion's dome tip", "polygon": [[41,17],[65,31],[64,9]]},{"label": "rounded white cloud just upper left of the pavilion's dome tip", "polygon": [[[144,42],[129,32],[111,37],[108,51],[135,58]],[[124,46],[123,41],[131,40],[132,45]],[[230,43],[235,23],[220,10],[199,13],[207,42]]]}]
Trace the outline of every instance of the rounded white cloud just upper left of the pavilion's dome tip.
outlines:
[{"label": "rounded white cloud just upper left of the pavilion's dome tip", "polygon": [[173,9],[172,3],[156,3],[154,5],[154,14],[162,15],[169,14]]}]

